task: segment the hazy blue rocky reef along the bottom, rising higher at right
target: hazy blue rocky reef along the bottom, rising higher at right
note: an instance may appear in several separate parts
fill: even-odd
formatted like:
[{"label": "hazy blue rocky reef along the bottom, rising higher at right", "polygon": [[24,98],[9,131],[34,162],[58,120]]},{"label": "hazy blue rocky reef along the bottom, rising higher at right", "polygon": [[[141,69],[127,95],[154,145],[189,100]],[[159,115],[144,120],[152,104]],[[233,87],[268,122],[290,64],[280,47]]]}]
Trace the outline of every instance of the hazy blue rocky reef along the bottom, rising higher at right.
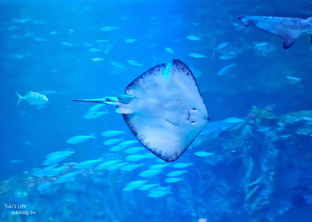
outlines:
[{"label": "hazy blue rocky reef along the bottom, rising higher at right", "polygon": [[[123,191],[127,182],[140,179],[136,171],[81,170],[76,179],[57,183],[77,170],[76,163],[67,163],[55,177],[29,171],[3,181],[1,221],[311,221],[312,111],[273,116],[253,107],[251,114],[217,136],[199,136],[191,149],[213,155],[185,152],[183,161],[194,166],[182,181],[170,184],[172,194],[151,198],[141,190]],[[151,180],[163,184],[163,175]],[[45,182],[52,186],[38,191]]]}]

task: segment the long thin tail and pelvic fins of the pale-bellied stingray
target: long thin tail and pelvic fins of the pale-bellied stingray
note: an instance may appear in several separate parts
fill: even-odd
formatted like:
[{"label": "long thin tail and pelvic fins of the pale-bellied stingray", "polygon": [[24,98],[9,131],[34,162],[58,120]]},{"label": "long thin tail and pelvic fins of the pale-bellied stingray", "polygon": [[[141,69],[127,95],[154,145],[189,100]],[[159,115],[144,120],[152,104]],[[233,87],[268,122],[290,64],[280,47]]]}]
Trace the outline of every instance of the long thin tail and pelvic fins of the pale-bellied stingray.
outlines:
[{"label": "long thin tail and pelvic fins of the pale-bellied stingray", "polygon": [[105,97],[103,99],[78,99],[78,100],[72,100],[73,102],[96,102],[96,103],[103,103],[110,106],[116,107],[117,113],[123,113],[123,114],[130,114],[133,113],[133,110],[131,109],[132,105],[130,102],[134,99],[134,96],[129,95],[122,95],[117,97]]}]

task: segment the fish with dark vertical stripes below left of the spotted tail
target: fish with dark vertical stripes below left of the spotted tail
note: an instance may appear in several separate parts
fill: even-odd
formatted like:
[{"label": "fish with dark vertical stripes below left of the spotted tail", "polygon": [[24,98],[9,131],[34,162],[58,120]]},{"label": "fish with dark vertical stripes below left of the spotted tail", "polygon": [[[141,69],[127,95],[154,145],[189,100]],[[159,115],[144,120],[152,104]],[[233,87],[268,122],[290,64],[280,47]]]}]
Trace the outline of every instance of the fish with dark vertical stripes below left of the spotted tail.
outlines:
[{"label": "fish with dark vertical stripes below left of the spotted tail", "polygon": [[224,55],[236,56],[238,54],[243,53],[251,46],[248,44],[242,44],[239,42],[223,42],[217,46],[217,48],[213,48],[213,53],[211,58],[213,58],[215,51],[220,52]]}]

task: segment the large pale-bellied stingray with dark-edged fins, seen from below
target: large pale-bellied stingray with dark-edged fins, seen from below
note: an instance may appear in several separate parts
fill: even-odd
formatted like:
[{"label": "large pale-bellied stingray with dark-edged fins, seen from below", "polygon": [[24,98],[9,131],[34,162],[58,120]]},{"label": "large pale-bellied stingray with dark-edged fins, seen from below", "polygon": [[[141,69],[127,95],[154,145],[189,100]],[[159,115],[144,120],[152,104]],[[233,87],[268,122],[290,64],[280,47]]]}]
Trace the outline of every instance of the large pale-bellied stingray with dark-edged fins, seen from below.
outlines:
[{"label": "large pale-bellied stingray with dark-edged fins, seen from below", "polygon": [[136,139],[166,162],[177,160],[209,120],[192,71],[178,59],[150,68],[124,91],[117,97],[73,101],[115,106]]}]

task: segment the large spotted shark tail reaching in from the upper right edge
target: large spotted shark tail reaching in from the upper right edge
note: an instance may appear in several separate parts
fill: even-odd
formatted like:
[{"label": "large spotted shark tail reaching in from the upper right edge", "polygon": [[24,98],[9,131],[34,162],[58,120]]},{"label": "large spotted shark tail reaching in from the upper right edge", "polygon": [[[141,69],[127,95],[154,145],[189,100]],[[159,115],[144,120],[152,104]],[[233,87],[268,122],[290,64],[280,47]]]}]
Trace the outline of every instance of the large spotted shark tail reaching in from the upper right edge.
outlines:
[{"label": "large spotted shark tail reaching in from the upper right edge", "polygon": [[238,19],[245,26],[252,24],[259,29],[281,37],[284,40],[284,49],[294,45],[295,40],[303,32],[307,32],[310,35],[312,43],[312,17],[304,20],[301,18],[242,16]]}]

